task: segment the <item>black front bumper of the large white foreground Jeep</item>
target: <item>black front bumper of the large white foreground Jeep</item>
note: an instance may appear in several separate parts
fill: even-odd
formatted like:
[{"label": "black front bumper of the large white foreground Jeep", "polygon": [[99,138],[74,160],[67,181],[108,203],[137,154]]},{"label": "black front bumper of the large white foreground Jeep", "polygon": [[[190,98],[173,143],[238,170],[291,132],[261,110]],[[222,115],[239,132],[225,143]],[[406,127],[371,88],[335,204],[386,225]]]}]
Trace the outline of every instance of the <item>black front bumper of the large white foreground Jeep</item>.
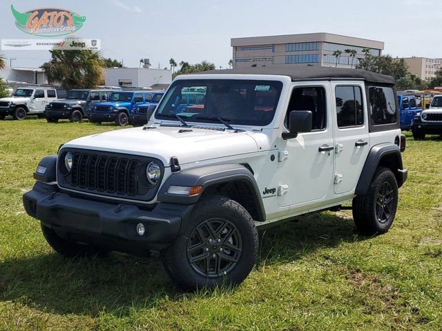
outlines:
[{"label": "black front bumper of the large white foreground Jeep", "polygon": [[[152,210],[143,210],[139,205],[71,196],[57,185],[39,181],[23,194],[23,205],[60,237],[133,254],[165,248],[193,209],[193,205],[157,203]],[[143,236],[136,232],[138,223],[146,228]]]}]

